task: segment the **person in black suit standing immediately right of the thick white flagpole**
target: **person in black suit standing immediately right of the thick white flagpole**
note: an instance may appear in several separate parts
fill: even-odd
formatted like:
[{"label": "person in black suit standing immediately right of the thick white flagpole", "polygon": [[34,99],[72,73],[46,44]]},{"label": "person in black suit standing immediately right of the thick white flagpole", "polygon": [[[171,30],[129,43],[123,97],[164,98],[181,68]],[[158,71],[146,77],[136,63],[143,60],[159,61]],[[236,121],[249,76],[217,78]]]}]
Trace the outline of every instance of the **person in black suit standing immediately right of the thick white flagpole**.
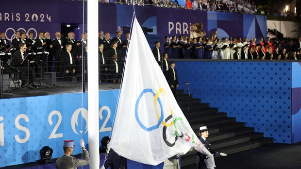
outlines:
[{"label": "person in black suit standing immediately right of the thick white flagpole", "polygon": [[98,55],[99,55],[99,81],[101,83],[105,82],[107,80],[107,76],[108,76],[108,62],[109,62],[109,58],[107,57],[107,54],[103,52],[103,44],[99,45],[99,51],[98,51]]}]

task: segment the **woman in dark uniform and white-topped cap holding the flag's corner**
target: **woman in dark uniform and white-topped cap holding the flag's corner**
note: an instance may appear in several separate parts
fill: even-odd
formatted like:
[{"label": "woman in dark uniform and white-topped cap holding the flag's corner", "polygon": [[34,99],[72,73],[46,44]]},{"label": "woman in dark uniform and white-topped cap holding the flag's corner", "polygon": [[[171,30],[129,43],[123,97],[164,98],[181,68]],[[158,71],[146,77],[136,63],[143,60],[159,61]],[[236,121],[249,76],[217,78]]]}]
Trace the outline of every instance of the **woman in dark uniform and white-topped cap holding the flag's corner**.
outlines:
[{"label": "woman in dark uniform and white-topped cap holding the flag's corner", "polygon": [[201,143],[204,145],[204,147],[210,152],[212,153],[212,155],[204,155],[201,154],[201,152],[197,153],[197,169],[207,169],[207,165],[205,160],[208,158],[213,158],[213,155],[215,156],[227,156],[227,154],[223,153],[223,152],[214,152],[211,149],[211,144],[208,140],[208,135],[209,135],[209,129],[206,126],[202,126],[200,127],[200,141]]}]

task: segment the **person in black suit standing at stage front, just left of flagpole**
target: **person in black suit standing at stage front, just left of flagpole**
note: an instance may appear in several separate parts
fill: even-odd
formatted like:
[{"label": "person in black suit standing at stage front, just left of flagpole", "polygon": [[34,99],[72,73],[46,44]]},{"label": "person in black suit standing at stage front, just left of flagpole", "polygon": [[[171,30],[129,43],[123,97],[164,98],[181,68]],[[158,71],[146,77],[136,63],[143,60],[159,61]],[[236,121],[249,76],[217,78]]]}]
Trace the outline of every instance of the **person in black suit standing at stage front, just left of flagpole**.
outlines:
[{"label": "person in black suit standing at stage front, just left of flagpole", "polygon": [[66,51],[63,54],[64,58],[64,71],[67,81],[72,82],[72,77],[75,75],[75,53],[72,52],[72,44],[66,45]]}]

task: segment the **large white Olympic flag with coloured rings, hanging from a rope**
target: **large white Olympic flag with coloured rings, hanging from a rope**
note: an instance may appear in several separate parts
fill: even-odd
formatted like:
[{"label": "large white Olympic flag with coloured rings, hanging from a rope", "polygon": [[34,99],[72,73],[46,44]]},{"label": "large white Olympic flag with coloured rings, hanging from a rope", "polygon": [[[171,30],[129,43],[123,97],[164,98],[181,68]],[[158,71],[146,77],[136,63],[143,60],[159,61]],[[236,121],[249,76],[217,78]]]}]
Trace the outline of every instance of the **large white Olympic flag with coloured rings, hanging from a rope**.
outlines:
[{"label": "large white Olympic flag with coloured rings, hanging from a rope", "polygon": [[193,145],[203,154],[210,154],[177,104],[134,18],[108,150],[112,148],[140,163],[158,165],[176,154],[185,154]]}]

